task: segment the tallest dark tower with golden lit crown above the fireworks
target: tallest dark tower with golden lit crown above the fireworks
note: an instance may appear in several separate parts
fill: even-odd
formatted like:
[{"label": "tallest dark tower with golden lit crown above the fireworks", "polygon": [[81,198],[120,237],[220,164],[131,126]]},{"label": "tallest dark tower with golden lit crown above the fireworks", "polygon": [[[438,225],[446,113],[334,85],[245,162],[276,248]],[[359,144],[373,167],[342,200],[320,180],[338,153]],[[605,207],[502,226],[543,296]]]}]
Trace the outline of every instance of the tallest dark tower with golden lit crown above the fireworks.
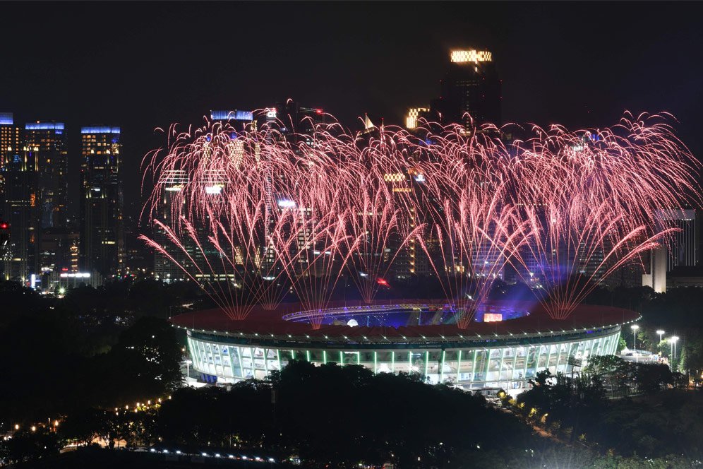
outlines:
[{"label": "tallest dark tower with golden lit crown above the fireworks", "polygon": [[466,131],[481,124],[500,126],[500,88],[491,52],[452,50],[440,97],[431,103],[433,118],[442,124],[461,124]]}]

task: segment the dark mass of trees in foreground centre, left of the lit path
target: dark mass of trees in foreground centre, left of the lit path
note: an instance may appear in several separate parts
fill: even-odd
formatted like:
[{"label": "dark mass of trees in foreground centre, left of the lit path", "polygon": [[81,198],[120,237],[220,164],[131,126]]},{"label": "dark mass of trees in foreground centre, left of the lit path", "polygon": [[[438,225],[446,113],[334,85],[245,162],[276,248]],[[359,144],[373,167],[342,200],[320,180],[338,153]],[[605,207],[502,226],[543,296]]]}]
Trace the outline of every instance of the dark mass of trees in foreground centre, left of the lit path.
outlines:
[{"label": "dark mass of trees in foreground centre, left of the lit path", "polygon": [[[498,451],[506,434],[525,449],[532,441],[527,427],[488,408],[481,396],[428,386],[419,376],[308,362],[291,362],[270,382],[243,381],[229,391],[181,389],[152,417],[138,419],[128,437],[133,444],[268,449],[279,460],[299,456],[306,467],[445,467],[459,451]],[[96,426],[85,427],[91,421]],[[61,432],[83,441],[93,433],[118,437],[100,422],[76,415]]]}]

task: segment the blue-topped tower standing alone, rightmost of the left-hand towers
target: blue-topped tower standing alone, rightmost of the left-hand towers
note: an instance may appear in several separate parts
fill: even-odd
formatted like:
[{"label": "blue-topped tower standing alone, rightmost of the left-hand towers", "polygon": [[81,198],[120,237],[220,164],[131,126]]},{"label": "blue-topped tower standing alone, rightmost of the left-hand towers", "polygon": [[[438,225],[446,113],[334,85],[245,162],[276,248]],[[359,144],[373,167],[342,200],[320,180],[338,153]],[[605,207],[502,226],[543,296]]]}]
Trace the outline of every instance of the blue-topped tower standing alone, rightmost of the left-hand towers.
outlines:
[{"label": "blue-topped tower standing alone, rightmost of the left-hand towers", "polygon": [[119,127],[80,129],[80,271],[105,280],[122,270],[123,201]]}]

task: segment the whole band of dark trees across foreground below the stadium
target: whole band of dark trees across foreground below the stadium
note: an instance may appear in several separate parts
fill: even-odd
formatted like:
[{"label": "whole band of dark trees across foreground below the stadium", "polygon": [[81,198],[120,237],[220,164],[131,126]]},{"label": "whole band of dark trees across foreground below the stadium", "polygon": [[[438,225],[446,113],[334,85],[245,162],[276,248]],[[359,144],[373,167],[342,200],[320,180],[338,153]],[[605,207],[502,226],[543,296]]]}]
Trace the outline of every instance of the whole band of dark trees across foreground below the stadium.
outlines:
[{"label": "whole band of dark trees across foreground below the stadium", "polygon": [[[277,465],[295,457],[306,468],[393,463],[399,469],[673,469],[691,467],[701,454],[699,394],[663,391],[648,400],[609,401],[560,380],[550,384],[541,375],[533,391],[512,403],[506,396],[506,405],[529,409],[520,420],[480,395],[423,384],[419,376],[291,362],[270,381],[181,388],[160,406],[137,412],[85,406],[57,432],[23,430],[0,444],[0,452],[5,449],[6,461],[90,465],[104,457],[83,451],[66,458],[69,466],[52,455],[66,442],[102,437],[113,449],[101,455],[126,444],[167,449],[169,458],[176,450],[203,451],[270,456]],[[534,425],[553,437],[535,434]]]}]

